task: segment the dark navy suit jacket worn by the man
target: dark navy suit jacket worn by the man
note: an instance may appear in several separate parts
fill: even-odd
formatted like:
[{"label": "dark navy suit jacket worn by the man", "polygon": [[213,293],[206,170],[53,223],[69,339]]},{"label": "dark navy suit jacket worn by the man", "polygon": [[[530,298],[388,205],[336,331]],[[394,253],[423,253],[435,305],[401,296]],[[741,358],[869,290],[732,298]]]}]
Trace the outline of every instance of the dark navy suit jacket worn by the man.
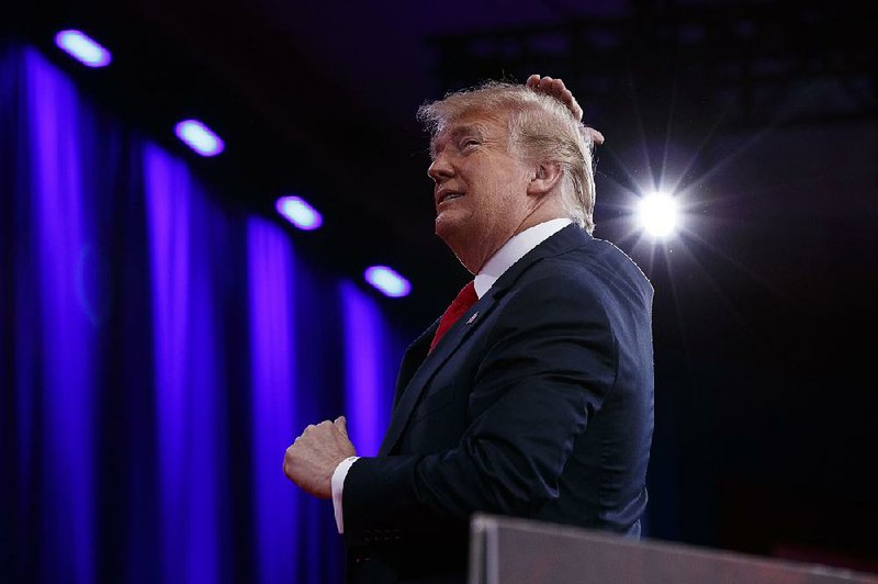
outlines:
[{"label": "dark navy suit jacket worn by the man", "polygon": [[574,224],[510,267],[432,353],[438,322],[416,339],[379,456],[345,481],[349,580],[464,582],[476,510],[638,537],[652,295],[628,256]]}]

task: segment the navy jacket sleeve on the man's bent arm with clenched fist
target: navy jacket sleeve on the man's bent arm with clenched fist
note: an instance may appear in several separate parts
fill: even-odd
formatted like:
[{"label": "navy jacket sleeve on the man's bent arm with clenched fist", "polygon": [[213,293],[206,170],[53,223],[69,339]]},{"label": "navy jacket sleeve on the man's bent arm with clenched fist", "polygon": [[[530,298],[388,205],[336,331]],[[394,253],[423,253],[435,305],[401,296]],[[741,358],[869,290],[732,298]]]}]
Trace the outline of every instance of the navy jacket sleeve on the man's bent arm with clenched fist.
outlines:
[{"label": "navy jacket sleeve on the man's bent arm with clenched fist", "polygon": [[607,307],[586,278],[571,276],[514,289],[497,311],[466,348],[479,364],[466,380],[460,443],[351,467],[342,501],[350,543],[429,531],[476,510],[527,516],[558,497],[574,439],[616,381]]}]

